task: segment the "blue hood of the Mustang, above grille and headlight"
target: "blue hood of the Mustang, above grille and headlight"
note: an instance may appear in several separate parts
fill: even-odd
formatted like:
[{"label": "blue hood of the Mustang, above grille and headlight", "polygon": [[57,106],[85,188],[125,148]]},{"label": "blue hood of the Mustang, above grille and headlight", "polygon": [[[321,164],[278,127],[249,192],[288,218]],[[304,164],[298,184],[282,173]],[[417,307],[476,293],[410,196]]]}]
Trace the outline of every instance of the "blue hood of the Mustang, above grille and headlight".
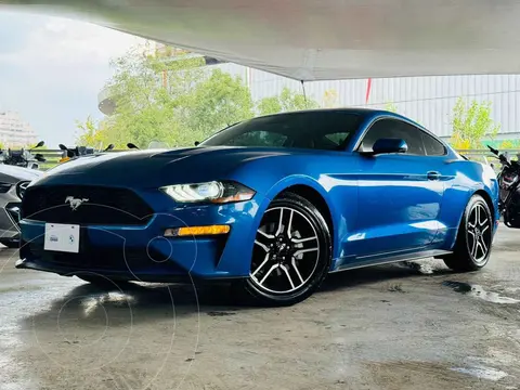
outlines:
[{"label": "blue hood of the Mustang, above grille and headlight", "polygon": [[295,153],[306,153],[306,151],[199,146],[168,151],[107,153],[64,162],[49,170],[34,184],[81,183],[157,187],[167,184],[224,179],[245,161]]}]

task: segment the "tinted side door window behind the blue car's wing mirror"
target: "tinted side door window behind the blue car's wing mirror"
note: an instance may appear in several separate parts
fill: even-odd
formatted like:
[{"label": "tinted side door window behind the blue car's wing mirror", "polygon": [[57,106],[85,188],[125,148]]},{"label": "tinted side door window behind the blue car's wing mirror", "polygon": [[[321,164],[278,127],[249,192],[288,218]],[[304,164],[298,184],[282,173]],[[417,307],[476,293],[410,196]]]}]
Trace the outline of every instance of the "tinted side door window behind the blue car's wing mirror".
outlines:
[{"label": "tinted side door window behind the blue car's wing mirror", "polygon": [[368,129],[360,147],[367,152],[372,151],[372,146],[379,139],[402,139],[408,145],[407,154],[425,155],[421,138],[422,132],[422,130],[417,129],[415,126],[401,120],[379,119]]}]

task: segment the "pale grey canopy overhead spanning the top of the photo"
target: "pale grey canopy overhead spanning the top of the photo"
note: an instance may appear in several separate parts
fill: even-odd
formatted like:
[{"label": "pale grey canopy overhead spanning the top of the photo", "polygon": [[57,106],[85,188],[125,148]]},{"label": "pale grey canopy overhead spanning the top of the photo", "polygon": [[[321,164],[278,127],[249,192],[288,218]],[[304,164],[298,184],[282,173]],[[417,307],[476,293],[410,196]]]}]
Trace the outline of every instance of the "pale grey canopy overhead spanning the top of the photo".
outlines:
[{"label": "pale grey canopy overhead spanning the top of the photo", "polygon": [[81,18],[306,81],[520,73],[520,0],[0,3]]}]

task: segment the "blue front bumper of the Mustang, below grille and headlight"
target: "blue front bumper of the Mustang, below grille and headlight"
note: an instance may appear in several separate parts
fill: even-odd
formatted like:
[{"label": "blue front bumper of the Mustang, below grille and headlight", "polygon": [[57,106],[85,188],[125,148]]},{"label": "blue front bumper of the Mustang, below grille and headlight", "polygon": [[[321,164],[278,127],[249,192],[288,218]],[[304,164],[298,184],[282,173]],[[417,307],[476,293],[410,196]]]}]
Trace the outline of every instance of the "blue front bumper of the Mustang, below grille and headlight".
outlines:
[{"label": "blue front bumper of the Mustang, below grille and headlight", "polygon": [[[46,223],[22,220],[16,268],[73,276],[89,272],[114,280],[177,282],[186,277],[236,278],[249,274],[256,235],[257,199],[186,207],[156,213],[143,226],[80,226],[78,253],[43,249]],[[164,237],[166,229],[227,224],[230,233]]]}]

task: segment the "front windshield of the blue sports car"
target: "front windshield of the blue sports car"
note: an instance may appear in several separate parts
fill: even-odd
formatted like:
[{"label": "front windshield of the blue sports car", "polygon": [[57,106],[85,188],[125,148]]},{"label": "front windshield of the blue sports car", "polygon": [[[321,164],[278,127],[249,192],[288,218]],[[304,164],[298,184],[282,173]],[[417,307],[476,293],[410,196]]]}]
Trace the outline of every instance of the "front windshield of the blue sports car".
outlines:
[{"label": "front windshield of the blue sports car", "polygon": [[271,115],[231,126],[200,143],[200,146],[342,151],[362,120],[362,115],[348,110]]}]

